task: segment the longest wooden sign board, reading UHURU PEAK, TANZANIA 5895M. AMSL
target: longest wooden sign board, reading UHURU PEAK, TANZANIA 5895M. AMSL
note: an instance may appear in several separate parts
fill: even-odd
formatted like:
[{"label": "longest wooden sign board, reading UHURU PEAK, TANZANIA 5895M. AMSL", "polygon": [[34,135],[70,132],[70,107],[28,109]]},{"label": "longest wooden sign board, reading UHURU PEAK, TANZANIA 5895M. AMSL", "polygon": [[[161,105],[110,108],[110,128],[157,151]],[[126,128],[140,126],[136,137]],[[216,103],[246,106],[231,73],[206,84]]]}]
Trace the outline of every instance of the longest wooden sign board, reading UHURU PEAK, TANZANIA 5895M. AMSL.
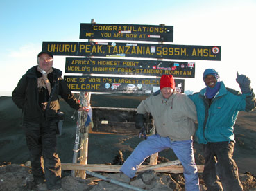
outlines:
[{"label": "longest wooden sign board, reading UHURU PEAK, TANZANIA 5895M. AMSL", "polygon": [[43,42],[53,55],[221,60],[221,46],[137,44],[115,42]]}]

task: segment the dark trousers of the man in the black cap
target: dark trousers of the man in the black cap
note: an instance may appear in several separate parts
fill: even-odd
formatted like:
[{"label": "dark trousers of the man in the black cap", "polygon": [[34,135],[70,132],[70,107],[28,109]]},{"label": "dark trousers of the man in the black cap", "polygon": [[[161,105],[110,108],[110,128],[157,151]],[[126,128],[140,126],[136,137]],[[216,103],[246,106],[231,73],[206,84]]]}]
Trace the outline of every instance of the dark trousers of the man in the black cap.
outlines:
[{"label": "dark trousers of the man in the black cap", "polygon": [[[61,163],[56,150],[57,120],[42,124],[24,122],[24,130],[35,183],[42,183],[45,176],[48,189],[61,188]],[[44,158],[44,172],[41,157]]]}]

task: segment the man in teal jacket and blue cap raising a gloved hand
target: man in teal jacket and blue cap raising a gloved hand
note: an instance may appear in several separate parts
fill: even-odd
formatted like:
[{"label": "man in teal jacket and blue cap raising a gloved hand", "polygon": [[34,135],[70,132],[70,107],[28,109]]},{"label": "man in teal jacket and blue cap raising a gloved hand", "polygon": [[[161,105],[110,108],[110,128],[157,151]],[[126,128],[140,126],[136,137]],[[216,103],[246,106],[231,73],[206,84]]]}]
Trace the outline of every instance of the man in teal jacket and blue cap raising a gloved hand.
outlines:
[{"label": "man in teal jacket and blue cap raising a gloved hand", "polygon": [[232,159],[234,123],[239,111],[255,109],[255,94],[250,87],[250,79],[237,73],[236,80],[242,94],[226,88],[214,69],[206,69],[203,80],[206,88],[189,95],[196,105],[198,143],[204,144],[203,179],[207,190],[243,190],[237,165]]}]

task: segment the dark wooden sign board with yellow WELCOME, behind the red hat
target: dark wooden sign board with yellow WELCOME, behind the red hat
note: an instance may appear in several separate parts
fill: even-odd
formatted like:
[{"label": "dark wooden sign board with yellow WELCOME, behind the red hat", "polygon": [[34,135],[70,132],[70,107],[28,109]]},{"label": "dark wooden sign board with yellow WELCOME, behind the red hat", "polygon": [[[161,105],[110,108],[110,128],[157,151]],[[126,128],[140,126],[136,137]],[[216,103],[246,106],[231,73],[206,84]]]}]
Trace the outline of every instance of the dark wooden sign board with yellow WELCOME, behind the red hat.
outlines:
[{"label": "dark wooden sign board with yellow WELCOME, behind the red hat", "polygon": [[[123,78],[66,75],[64,80],[71,91],[108,93],[153,93],[160,89],[159,78]],[[184,80],[175,79],[176,91],[184,92]]]}]

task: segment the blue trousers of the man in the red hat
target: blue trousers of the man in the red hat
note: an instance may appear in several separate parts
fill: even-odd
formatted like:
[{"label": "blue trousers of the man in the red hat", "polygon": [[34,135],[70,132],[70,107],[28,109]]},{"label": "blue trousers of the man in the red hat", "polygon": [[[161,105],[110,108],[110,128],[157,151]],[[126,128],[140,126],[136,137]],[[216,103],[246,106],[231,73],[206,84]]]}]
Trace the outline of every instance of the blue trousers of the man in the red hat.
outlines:
[{"label": "blue trousers of the man in the red hat", "polygon": [[158,134],[149,136],[134,149],[133,153],[126,159],[120,171],[133,178],[139,165],[148,156],[164,149],[171,148],[180,160],[184,169],[185,189],[187,191],[199,190],[198,171],[194,159],[194,149],[192,140],[171,141],[169,137],[161,137]]}]

